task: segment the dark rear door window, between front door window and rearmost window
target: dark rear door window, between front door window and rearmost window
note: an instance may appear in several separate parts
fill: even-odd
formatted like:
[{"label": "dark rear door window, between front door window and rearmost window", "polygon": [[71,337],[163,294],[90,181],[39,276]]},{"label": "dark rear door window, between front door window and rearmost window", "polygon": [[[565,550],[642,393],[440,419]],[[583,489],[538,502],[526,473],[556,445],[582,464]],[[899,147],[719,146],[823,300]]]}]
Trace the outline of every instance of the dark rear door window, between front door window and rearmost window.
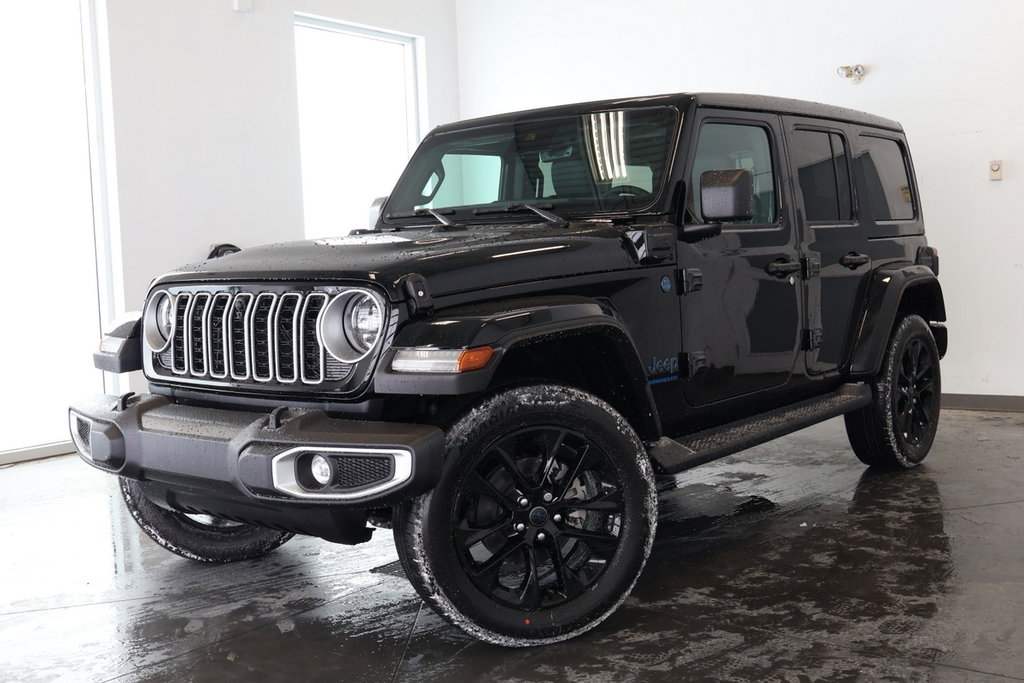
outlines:
[{"label": "dark rear door window, between front door window and rearmost window", "polygon": [[795,131],[793,157],[807,220],[852,220],[850,169],[843,136],[818,130]]}]

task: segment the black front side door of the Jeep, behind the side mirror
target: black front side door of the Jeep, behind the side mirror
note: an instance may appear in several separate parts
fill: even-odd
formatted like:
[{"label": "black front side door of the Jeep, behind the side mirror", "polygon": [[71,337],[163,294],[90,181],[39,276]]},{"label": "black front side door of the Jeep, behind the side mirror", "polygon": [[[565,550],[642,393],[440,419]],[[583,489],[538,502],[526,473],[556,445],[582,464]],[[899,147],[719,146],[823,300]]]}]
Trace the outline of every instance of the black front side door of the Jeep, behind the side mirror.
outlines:
[{"label": "black front side door of the Jeep, behind the side mirror", "polygon": [[788,214],[776,115],[698,111],[685,182],[686,220],[703,222],[700,174],[749,169],[754,218],[718,237],[680,244],[682,336],[690,405],[786,384],[800,352],[802,281]]}]

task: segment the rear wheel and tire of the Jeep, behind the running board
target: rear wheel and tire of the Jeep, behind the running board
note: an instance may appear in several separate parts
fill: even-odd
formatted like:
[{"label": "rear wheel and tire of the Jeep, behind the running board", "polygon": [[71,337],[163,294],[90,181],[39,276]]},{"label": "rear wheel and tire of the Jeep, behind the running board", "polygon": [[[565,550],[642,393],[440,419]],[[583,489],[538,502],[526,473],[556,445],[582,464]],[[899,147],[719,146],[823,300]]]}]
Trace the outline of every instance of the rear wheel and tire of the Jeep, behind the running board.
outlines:
[{"label": "rear wheel and tire of the Jeep, behind the running board", "polygon": [[941,396],[938,347],[920,315],[896,324],[870,384],[870,404],[846,414],[850,445],[865,465],[916,467],[935,440]]}]

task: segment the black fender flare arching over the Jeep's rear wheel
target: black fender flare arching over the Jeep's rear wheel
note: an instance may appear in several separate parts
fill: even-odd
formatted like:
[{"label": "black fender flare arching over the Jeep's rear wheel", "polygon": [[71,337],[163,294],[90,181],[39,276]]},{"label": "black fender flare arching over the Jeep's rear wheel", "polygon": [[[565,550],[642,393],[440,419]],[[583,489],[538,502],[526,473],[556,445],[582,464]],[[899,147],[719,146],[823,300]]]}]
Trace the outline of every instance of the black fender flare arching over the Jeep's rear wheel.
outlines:
[{"label": "black fender flare arching over the Jeep's rear wheel", "polygon": [[914,312],[937,333],[940,356],[945,353],[945,328],[938,324],[946,319],[946,306],[938,278],[924,265],[884,266],[872,273],[867,287],[864,308],[857,324],[850,374],[870,376],[879,372],[889,336],[908,293],[912,293],[920,303]]}]

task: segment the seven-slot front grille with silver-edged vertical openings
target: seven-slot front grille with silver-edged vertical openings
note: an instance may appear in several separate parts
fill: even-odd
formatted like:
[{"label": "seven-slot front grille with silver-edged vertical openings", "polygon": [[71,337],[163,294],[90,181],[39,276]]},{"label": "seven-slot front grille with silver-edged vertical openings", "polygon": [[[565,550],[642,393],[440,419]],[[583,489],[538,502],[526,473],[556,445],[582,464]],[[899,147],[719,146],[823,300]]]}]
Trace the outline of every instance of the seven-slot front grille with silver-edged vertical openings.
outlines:
[{"label": "seven-slot front grille with silver-edged vertical openings", "polygon": [[325,292],[182,292],[174,297],[171,343],[156,361],[182,379],[345,380],[352,365],[326,353],[317,334],[328,301]]}]

